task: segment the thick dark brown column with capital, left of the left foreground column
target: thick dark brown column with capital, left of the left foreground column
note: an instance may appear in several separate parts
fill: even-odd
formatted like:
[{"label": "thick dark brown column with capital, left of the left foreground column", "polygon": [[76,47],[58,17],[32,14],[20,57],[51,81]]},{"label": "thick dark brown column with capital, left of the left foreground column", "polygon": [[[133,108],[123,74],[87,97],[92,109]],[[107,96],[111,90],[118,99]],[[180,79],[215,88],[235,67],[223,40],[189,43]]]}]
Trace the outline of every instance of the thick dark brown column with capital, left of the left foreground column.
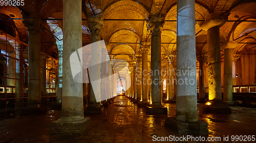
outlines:
[{"label": "thick dark brown column with capital, left of the left foreground column", "polygon": [[38,109],[41,104],[41,19],[26,14],[23,14],[23,19],[29,33],[28,107]]}]

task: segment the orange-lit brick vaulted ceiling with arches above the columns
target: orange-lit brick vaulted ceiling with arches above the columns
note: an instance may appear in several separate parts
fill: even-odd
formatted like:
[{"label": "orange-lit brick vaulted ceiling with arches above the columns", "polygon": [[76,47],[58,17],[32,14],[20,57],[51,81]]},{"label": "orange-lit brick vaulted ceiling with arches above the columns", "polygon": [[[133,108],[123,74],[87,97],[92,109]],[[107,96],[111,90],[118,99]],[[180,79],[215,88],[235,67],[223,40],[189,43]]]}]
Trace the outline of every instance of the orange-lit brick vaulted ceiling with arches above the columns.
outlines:
[{"label": "orange-lit brick vaulted ceiling with arches above the columns", "polygon": [[[253,0],[196,0],[195,1],[196,20],[206,20],[210,15],[226,16],[228,21],[220,28],[221,42],[240,42],[234,49],[234,54],[243,50],[255,50],[256,43],[256,2]],[[176,20],[176,0],[82,0],[82,18],[87,15],[102,15],[102,19],[148,19],[151,15],[165,16],[166,20]],[[0,15],[10,18],[22,18],[23,11],[30,16],[38,16],[42,19],[56,18],[62,19],[61,0],[25,0],[24,6],[0,6]],[[240,20],[240,21],[239,21]],[[241,21],[241,20],[251,20]],[[28,33],[22,23],[22,19],[12,20],[16,30],[16,38],[28,42]],[[196,24],[196,48],[197,54],[205,52],[207,42],[207,32],[201,30],[197,21]],[[139,53],[141,41],[150,41],[147,21],[136,20],[103,20],[101,37],[110,43],[107,47],[115,58],[132,61],[134,53]],[[42,20],[44,29],[42,30],[42,50],[51,53],[56,49],[56,38],[54,38],[53,25],[62,30],[62,20]],[[87,21],[82,21],[83,45],[90,43],[91,36]],[[49,33],[52,32],[51,33]],[[22,35],[22,36],[21,36]],[[176,54],[176,21],[166,21],[162,30],[162,59],[167,54]],[[249,42],[248,44],[246,44]],[[127,43],[127,44],[121,44]],[[148,61],[150,62],[150,54]],[[223,52],[221,53],[223,54]],[[223,58],[223,56],[222,56]],[[164,60],[162,65],[164,65]],[[150,64],[148,65],[150,67]]]}]

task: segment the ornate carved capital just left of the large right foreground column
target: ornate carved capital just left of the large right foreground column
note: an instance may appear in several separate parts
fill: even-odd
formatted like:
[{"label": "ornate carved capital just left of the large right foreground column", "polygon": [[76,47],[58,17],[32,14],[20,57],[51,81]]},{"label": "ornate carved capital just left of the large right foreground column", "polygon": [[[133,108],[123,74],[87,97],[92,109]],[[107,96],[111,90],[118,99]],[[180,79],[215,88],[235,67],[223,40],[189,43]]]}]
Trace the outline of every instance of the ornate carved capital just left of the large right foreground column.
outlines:
[{"label": "ornate carved capital just left of the large right foreground column", "polygon": [[150,20],[148,21],[148,26],[150,29],[151,35],[160,35],[163,25],[164,25],[165,17],[150,17]]}]

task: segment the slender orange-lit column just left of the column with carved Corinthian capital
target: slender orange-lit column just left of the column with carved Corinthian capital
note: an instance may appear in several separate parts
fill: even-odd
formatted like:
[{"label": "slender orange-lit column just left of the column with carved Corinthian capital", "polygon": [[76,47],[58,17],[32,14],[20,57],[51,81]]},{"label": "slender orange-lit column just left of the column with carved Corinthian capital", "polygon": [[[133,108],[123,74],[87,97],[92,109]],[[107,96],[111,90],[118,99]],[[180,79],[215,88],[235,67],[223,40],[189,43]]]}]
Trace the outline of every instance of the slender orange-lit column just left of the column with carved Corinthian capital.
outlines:
[{"label": "slender orange-lit column just left of the column with carved Corinthian capital", "polygon": [[150,48],[150,42],[141,43],[141,54],[142,54],[142,103],[148,103],[147,94],[147,53]]}]

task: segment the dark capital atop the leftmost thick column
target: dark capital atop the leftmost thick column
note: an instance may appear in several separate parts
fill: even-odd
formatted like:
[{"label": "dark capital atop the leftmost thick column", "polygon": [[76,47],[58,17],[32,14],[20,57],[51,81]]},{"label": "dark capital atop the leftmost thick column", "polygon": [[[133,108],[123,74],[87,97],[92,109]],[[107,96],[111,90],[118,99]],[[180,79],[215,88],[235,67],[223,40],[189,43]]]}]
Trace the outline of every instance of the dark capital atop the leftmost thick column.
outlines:
[{"label": "dark capital atop the leftmost thick column", "polygon": [[41,18],[22,14],[22,23],[27,27],[29,33],[41,33]]}]

